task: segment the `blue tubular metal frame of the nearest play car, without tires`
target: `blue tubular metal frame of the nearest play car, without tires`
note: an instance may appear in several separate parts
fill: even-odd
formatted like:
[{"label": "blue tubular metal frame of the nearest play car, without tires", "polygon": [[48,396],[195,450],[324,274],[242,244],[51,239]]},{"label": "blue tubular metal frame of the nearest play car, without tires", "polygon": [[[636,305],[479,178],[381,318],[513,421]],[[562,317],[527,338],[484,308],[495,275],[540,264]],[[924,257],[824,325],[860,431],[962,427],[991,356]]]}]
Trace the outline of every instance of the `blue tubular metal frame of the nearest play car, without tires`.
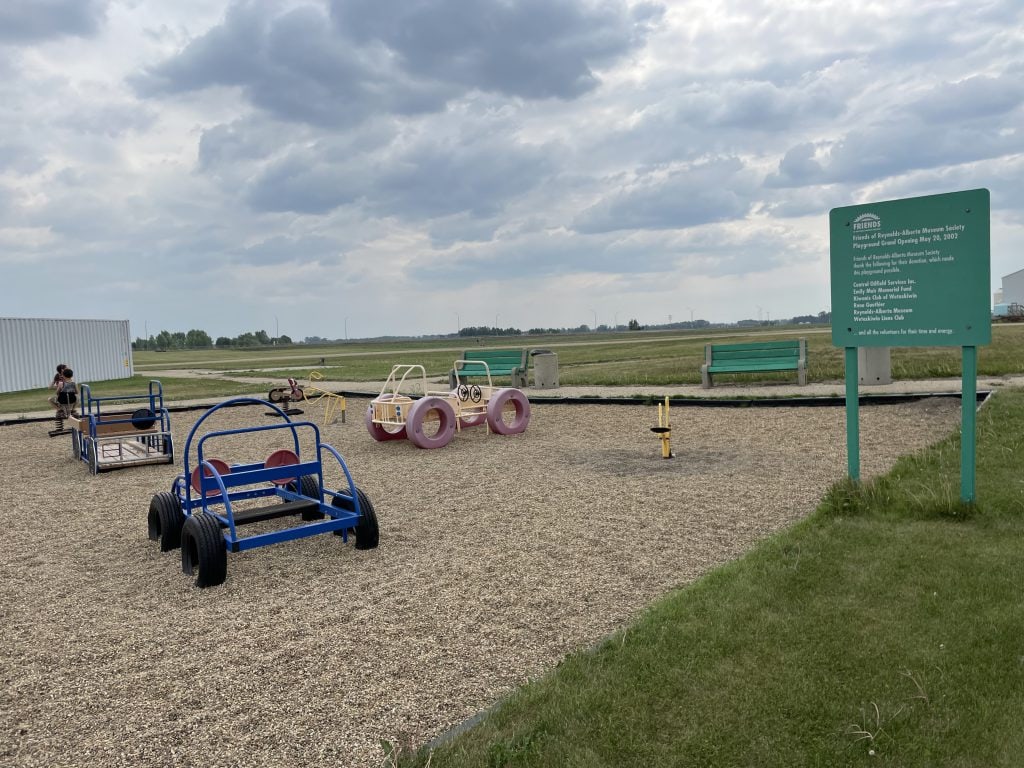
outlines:
[{"label": "blue tubular metal frame of the nearest play car, without tires", "polygon": [[[197,437],[203,423],[217,411],[222,408],[242,404],[254,404],[273,409],[283,421],[257,427],[211,431],[203,434],[202,437]],[[299,446],[300,429],[312,430],[312,436],[316,445],[316,458],[314,461],[302,461]],[[221,474],[211,462],[204,458],[204,449],[208,440],[228,435],[269,432],[273,430],[289,431],[292,437],[292,450],[299,457],[298,464],[269,468],[263,464],[236,464],[230,467],[230,471]],[[194,443],[195,451],[193,450]],[[345,480],[348,483],[347,493],[345,490],[329,490],[324,487],[325,452],[333,456],[341,467],[345,475]],[[190,464],[194,455],[196,461],[195,464]],[[197,511],[203,511],[215,517],[224,529],[224,546],[230,552],[243,552],[257,547],[278,544],[279,542],[305,539],[306,537],[336,530],[340,530],[342,539],[347,542],[348,529],[354,527],[362,517],[358,494],[355,492],[355,483],[352,481],[352,475],[349,473],[345,461],[341,458],[341,454],[335,451],[333,446],[321,441],[319,428],[315,424],[308,421],[293,422],[281,408],[266,400],[255,397],[236,397],[214,406],[203,414],[188,432],[182,464],[184,473],[174,479],[171,485],[171,493],[178,498],[181,509],[186,516],[190,516]],[[191,486],[191,473],[197,467],[203,467],[205,470],[200,472],[199,493]],[[210,473],[209,476],[207,476],[207,471]],[[299,478],[307,475],[315,475],[316,477],[317,498],[306,497],[299,493],[302,489]],[[286,477],[296,478],[295,490],[289,489],[284,485],[274,484],[274,480],[282,480]],[[258,487],[253,487],[254,485]],[[239,489],[232,490],[231,488]],[[209,496],[207,496],[208,493],[210,494]],[[301,525],[282,528],[267,534],[257,534],[248,537],[239,536],[233,503],[265,497],[275,497],[281,501],[316,502],[319,505],[319,511],[327,515],[328,519],[307,521]],[[335,507],[331,504],[332,499],[344,499],[350,502],[352,509],[346,510]]]}]

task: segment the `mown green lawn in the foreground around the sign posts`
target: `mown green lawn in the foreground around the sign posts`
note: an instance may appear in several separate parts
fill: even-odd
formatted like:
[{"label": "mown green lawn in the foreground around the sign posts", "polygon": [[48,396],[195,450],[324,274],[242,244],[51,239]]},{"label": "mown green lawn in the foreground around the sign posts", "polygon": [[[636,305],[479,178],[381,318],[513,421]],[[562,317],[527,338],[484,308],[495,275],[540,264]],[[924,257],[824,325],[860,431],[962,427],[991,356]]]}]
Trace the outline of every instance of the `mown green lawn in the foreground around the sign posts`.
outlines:
[{"label": "mown green lawn in the foreground around the sign posts", "polygon": [[1018,766],[1024,393],[574,653],[410,768]]}]

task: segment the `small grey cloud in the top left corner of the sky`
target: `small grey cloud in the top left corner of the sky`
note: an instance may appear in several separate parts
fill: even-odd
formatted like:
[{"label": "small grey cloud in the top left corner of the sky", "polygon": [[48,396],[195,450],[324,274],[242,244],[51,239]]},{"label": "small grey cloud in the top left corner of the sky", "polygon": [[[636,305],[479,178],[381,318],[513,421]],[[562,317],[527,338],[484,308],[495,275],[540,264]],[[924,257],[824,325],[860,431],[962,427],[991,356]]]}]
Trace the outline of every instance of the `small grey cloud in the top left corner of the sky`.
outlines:
[{"label": "small grey cloud in the top left corner of the sky", "polygon": [[0,44],[91,37],[105,20],[108,4],[109,0],[4,0],[0,3]]}]

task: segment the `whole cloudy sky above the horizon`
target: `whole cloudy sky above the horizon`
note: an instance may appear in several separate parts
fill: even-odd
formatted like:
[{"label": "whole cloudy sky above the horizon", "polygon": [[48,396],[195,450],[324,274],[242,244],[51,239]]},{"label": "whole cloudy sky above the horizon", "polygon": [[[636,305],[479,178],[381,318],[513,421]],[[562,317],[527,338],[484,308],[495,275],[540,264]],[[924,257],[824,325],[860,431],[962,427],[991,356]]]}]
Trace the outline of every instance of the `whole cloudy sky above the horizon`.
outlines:
[{"label": "whole cloudy sky above the horizon", "polygon": [[828,209],[992,193],[1020,0],[3,0],[0,315],[350,338],[817,313]]}]

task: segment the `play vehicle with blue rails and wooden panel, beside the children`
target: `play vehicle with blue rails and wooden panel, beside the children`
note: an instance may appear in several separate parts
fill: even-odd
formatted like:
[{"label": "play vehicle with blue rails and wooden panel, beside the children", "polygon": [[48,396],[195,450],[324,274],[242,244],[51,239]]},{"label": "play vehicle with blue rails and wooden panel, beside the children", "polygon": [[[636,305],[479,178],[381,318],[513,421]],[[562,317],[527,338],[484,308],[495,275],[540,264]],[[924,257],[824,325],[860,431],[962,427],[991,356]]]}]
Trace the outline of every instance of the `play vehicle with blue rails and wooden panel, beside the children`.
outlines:
[{"label": "play vehicle with blue rails and wooden panel, beside the children", "polygon": [[[92,474],[138,464],[173,464],[171,418],[164,408],[164,389],[151,381],[145,394],[96,397],[88,384],[80,387],[81,415],[70,416],[72,451]],[[125,406],[144,401],[134,411],[104,411],[104,403]]]}]

